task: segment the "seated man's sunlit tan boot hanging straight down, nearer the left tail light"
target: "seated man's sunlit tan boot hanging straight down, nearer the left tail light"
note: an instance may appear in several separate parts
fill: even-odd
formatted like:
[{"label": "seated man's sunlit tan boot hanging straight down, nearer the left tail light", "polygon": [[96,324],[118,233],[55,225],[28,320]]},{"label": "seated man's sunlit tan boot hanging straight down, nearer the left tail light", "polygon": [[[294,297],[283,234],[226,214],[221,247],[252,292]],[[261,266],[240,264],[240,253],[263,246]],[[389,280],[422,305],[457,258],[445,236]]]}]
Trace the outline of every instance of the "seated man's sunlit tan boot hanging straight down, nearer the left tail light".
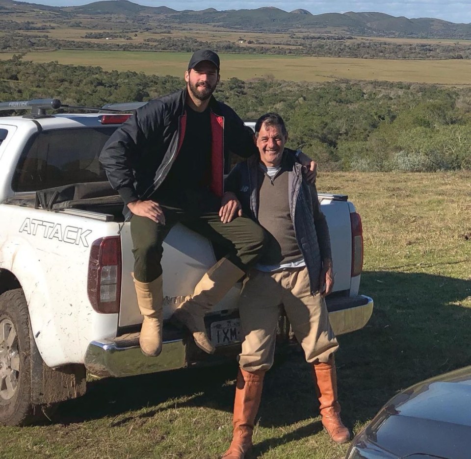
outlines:
[{"label": "seated man's sunlit tan boot hanging straight down, nearer the left tail light", "polygon": [[142,321],[139,346],[146,356],[158,356],[162,351],[162,276],[152,282],[139,282],[134,279],[137,304]]}]

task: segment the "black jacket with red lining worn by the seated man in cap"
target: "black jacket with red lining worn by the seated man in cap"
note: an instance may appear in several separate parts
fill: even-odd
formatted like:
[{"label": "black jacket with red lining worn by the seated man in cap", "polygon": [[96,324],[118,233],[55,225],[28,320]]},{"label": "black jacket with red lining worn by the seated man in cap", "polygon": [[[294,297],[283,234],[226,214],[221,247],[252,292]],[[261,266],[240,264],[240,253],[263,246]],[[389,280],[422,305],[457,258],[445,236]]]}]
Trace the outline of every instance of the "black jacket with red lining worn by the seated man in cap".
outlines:
[{"label": "black jacket with red lining worn by the seated man in cap", "polygon": [[[149,198],[160,186],[182,145],[186,126],[186,88],[137,109],[106,142],[100,162],[108,180],[125,204]],[[253,133],[235,111],[211,96],[211,190],[223,193],[229,154],[257,153]],[[183,135],[182,135],[183,133]]]}]

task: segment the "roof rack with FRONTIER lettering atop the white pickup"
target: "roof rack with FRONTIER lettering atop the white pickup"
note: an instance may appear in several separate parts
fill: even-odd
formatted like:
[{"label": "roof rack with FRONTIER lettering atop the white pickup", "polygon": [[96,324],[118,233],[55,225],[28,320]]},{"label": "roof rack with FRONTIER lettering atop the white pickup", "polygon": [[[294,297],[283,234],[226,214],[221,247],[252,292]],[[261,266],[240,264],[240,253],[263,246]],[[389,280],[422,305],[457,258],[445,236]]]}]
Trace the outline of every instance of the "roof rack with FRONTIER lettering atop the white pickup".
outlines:
[{"label": "roof rack with FRONTIER lettering atop the white pickup", "polygon": [[47,117],[46,110],[57,110],[58,108],[72,108],[75,110],[92,110],[96,112],[124,112],[132,111],[145,105],[147,102],[123,102],[123,103],[107,103],[101,108],[98,107],[81,107],[75,105],[66,105],[59,99],[33,99],[31,101],[11,101],[0,102],[0,111],[4,110],[31,110],[30,115],[25,118],[41,118]]}]

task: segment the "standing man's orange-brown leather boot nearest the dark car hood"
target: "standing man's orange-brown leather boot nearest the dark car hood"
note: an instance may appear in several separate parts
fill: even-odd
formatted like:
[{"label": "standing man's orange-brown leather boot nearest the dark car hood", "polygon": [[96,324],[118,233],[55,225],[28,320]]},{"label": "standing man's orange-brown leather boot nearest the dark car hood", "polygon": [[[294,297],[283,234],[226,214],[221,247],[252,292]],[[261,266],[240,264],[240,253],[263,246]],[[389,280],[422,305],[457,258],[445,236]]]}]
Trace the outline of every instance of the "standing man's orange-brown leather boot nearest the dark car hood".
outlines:
[{"label": "standing man's orange-brown leather boot nearest the dark car hood", "polygon": [[332,440],[345,443],[350,440],[350,431],[340,419],[340,404],[337,400],[337,372],[334,357],[327,363],[312,365],[315,392],[320,402],[322,425]]}]

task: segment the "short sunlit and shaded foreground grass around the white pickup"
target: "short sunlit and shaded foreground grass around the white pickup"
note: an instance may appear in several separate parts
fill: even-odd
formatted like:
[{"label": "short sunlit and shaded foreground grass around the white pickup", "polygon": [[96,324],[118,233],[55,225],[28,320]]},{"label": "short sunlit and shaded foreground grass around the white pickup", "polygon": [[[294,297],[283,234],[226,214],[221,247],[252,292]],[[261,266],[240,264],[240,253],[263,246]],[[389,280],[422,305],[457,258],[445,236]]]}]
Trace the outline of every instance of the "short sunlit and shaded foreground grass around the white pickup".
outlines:
[{"label": "short sunlit and shaded foreground grass around the white pickup", "polygon": [[[398,390],[471,364],[471,174],[322,173],[362,215],[366,328],[339,337],[344,422],[358,432]],[[0,427],[2,459],[215,459],[231,438],[235,364],[90,381],[43,426]],[[266,377],[252,458],[341,459],[298,351]]]}]

